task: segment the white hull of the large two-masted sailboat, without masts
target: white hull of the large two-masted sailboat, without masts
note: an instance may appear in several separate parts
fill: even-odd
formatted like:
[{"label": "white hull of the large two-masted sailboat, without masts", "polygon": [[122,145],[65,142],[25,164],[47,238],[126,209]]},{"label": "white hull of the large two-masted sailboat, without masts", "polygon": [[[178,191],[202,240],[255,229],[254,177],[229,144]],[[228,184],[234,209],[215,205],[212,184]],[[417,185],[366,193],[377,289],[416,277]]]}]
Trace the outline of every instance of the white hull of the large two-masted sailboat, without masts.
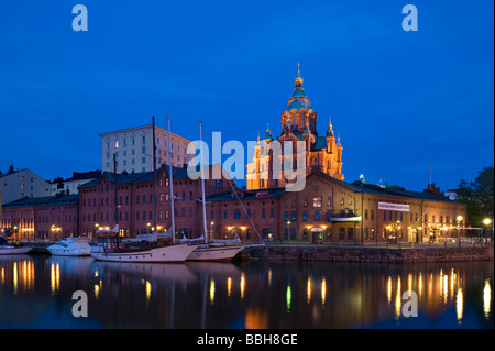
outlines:
[{"label": "white hull of the large two-masted sailboat, without masts", "polygon": [[102,252],[91,250],[91,256],[109,262],[185,262],[196,245],[169,245],[134,252]]}]

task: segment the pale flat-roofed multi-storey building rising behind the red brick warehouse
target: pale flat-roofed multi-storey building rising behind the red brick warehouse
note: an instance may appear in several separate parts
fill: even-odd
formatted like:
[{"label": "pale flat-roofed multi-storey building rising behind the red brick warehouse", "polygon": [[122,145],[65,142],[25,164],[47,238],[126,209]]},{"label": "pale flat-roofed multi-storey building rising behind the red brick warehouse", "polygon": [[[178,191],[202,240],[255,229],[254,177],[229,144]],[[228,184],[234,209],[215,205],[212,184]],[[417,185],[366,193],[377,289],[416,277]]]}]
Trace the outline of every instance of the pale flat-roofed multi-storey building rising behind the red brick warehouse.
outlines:
[{"label": "pale flat-roofed multi-storey building rising behind the red brick warehouse", "polygon": [[[101,169],[113,172],[113,154],[116,154],[117,172],[153,171],[153,125],[143,125],[99,134],[101,136]],[[182,167],[194,155],[187,154],[191,141],[172,133],[168,145],[168,131],[155,125],[156,167],[168,164],[168,150],[173,166]]]}]

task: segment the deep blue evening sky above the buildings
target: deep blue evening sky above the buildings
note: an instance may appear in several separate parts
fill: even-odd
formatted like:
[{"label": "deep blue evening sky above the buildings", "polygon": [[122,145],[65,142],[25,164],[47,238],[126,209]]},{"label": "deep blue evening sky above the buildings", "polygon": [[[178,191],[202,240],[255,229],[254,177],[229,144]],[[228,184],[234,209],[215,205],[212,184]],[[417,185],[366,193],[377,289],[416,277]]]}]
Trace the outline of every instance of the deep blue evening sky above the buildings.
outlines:
[{"label": "deep blue evening sky above the buildings", "polygon": [[[75,32],[75,4],[88,31]],[[405,32],[405,4],[418,9]],[[102,132],[151,123],[246,145],[280,134],[300,63],[345,180],[441,190],[494,160],[494,3],[7,1],[0,9],[0,169],[101,168]],[[251,152],[250,152],[251,156]],[[251,157],[250,160],[251,161]],[[241,184],[243,184],[241,182]]]}]

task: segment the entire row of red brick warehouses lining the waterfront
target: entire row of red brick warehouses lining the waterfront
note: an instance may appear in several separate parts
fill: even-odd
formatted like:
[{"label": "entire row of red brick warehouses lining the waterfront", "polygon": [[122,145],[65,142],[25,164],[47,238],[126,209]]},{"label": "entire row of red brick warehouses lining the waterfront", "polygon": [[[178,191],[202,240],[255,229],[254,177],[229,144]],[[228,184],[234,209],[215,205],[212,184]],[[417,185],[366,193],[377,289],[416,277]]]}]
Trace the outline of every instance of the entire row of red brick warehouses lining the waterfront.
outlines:
[{"label": "entire row of red brick warehouses lining the waterfront", "polygon": [[[118,175],[121,235],[152,231],[155,223],[158,232],[170,228],[167,169],[163,166],[156,172],[156,222],[153,173]],[[199,237],[204,233],[201,182],[189,178],[186,168],[174,168],[173,179],[176,232]],[[82,233],[91,237],[98,227],[112,228],[117,223],[114,182],[113,173],[103,173],[80,186],[79,195],[7,204],[2,229],[15,239],[56,240]],[[238,234],[245,242],[260,238],[307,243],[439,241],[457,238],[457,228],[463,227],[466,218],[465,205],[442,196],[345,183],[324,173],[309,175],[301,191],[240,189],[222,177],[207,179],[205,194],[208,232],[216,238]]]}]

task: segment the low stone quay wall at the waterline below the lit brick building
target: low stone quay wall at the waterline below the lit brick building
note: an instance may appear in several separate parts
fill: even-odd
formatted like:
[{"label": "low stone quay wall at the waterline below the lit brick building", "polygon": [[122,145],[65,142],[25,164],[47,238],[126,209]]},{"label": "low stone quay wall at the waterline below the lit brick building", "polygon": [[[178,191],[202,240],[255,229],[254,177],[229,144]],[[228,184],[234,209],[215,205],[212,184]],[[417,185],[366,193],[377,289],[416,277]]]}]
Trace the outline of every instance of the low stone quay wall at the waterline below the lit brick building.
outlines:
[{"label": "low stone quay wall at the waterline below the lit brick building", "polygon": [[240,254],[241,260],[327,261],[327,262],[455,262],[493,260],[488,248],[343,248],[343,246],[254,246]]}]

